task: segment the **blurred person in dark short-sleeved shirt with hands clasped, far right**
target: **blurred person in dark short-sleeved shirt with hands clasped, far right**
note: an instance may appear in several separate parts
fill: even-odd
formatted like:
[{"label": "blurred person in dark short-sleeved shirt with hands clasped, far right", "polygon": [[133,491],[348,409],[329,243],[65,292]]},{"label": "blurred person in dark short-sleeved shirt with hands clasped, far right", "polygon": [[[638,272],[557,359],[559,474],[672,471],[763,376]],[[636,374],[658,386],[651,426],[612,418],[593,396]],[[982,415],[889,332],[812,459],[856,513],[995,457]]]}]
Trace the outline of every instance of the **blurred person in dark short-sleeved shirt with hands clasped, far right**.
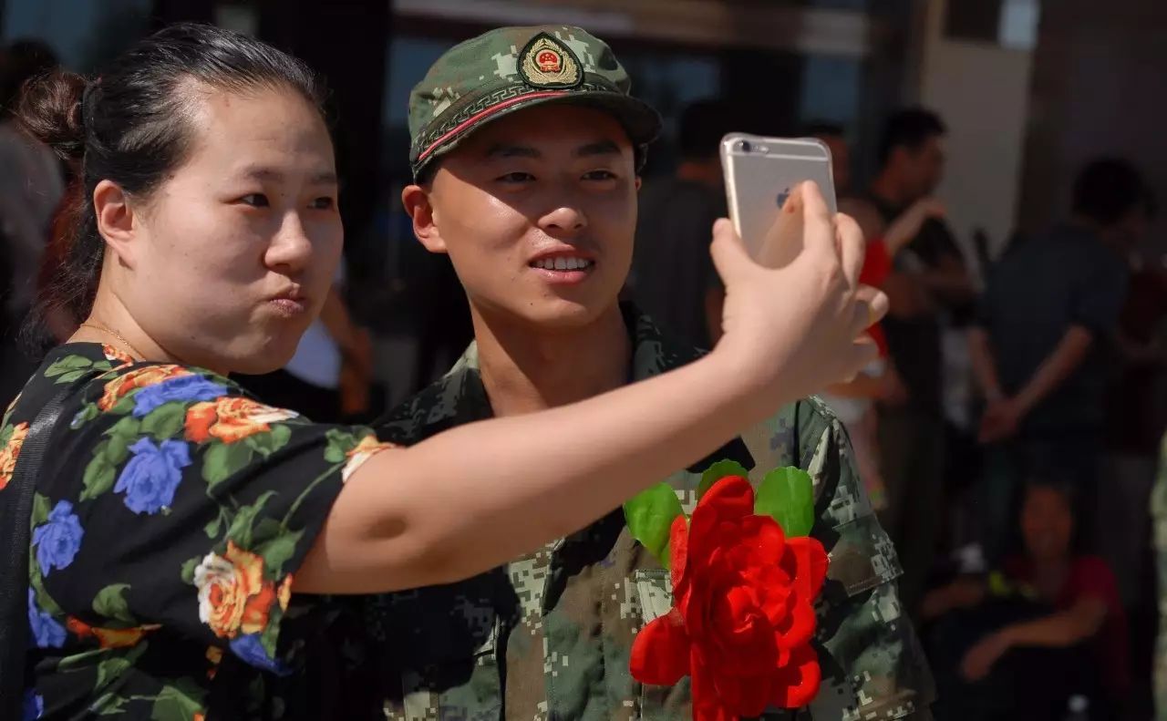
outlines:
[{"label": "blurred person in dark short-sleeved shirt with hands clasped, far right", "polygon": [[[980,440],[994,444],[980,504],[991,555],[1004,547],[1016,488],[1027,475],[1053,473],[1074,483],[1084,510],[1096,508],[1099,490],[1119,490],[1097,484],[1105,393],[1118,369],[1128,257],[1146,236],[1152,209],[1133,166],[1090,162],[1075,180],[1070,219],[1016,246],[990,274],[970,342],[987,404]],[[1095,517],[1081,519],[1090,541]]]}]

